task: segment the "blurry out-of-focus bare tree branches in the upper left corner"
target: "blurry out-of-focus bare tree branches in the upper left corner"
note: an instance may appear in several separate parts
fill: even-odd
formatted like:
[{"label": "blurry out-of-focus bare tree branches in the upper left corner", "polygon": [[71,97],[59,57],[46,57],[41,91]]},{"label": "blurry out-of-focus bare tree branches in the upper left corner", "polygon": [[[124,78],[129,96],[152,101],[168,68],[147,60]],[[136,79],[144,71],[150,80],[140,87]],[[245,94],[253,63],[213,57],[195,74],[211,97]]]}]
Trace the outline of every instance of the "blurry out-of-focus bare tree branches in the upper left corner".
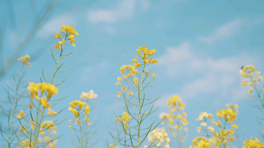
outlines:
[{"label": "blurry out-of-focus bare tree branches in the upper left corner", "polygon": [[[34,8],[35,1],[31,0],[30,3],[33,3],[30,5],[31,8]],[[13,65],[16,58],[23,52],[23,50],[26,49],[26,47],[32,42],[33,38],[36,36],[36,34],[40,31],[44,23],[48,20],[51,13],[59,3],[59,0],[53,0],[50,3],[47,3],[41,11],[37,14],[35,17],[35,24],[31,27],[32,29],[30,32],[26,35],[25,39],[18,45],[16,50],[12,53],[12,55],[4,62],[4,46],[3,46],[3,37],[4,37],[4,30],[5,26],[0,30],[0,58],[1,58],[1,68],[0,68],[0,81],[2,80],[3,76],[7,72],[7,70]],[[14,16],[14,9],[12,5],[12,0],[8,1],[8,9],[9,9],[9,25],[10,29],[16,29],[17,24],[15,22],[15,16]],[[34,10],[32,10],[34,12]],[[8,50],[8,49],[7,49]]]}]

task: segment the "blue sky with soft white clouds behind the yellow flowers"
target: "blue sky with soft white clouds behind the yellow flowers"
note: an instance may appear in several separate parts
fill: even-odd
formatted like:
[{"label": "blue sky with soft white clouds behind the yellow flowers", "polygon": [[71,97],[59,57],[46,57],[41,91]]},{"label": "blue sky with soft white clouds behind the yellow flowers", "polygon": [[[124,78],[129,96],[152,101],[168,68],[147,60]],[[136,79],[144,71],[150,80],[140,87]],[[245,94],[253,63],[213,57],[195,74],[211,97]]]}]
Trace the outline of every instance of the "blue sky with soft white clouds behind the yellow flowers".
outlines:
[{"label": "blue sky with soft white clouds behind the yellow flowers", "polygon": [[[36,13],[31,11],[28,3],[14,2],[18,27],[17,31],[6,29],[4,60],[15,51],[34,23]],[[36,1],[36,12],[45,3]],[[8,19],[6,3],[0,4],[1,19]],[[239,70],[242,65],[253,64],[256,70],[263,72],[263,4],[263,1],[246,0],[61,1],[21,54],[31,55],[40,50],[41,55],[28,68],[30,76],[25,81],[40,82],[41,67],[48,75],[53,73],[55,65],[48,48],[56,44],[53,36],[60,31],[61,25],[72,25],[80,35],[75,37],[76,47],[65,47],[65,51],[74,50],[74,53],[63,59],[64,69],[72,68],[57,75],[58,82],[68,79],[58,87],[56,95],[58,98],[70,97],[61,101],[58,110],[79,99],[81,92],[94,90],[98,98],[90,115],[96,119],[90,119],[97,120],[94,140],[100,141],[96,147],[106,147],[102,139],[109,138],[107,126],[114,126],[113,112],[121,115],[124,111],[116,106],[116,92],[120,87],[114,84],[121,76],[119,68],[131,64],[137,56],[136,49],[144,45],[157,51],[153,57],[158,60],[152,66],[157,71],[154,80],[157,85],[149,88],[147,93],[151,97],[162,95],[157,103],[160,108],[149,122],[159,120],[158,113],[168,111],[168,97],[180,95],[188,113],[189,134],[183,143],[183,147],[188,147],[198,135],[199,123],[195,119],[201,111],[216,115],[226,103],[236,103],[239,105],[238,118],[241,118],[239,130],[241,133],[246,131],[241,136],[241,143],[250,136],[261,139],[258,133],[261,126],[254,116],[261,114],[250,106],[260,102],[248,97],[248,88],[241,86]],[[13,69],[17,69],[17,64],[11,67],[1,84],[12,79]],[[2,97],[6,95],[3,89],[0,93]],[[67,116],[73,118],[68,110],[64,110],[58,119]],[[64,133],[58,141],[60,147],[72,146],[67,139],[73,134],[68,125],[65,121],[58,128],[58,134]]]}]

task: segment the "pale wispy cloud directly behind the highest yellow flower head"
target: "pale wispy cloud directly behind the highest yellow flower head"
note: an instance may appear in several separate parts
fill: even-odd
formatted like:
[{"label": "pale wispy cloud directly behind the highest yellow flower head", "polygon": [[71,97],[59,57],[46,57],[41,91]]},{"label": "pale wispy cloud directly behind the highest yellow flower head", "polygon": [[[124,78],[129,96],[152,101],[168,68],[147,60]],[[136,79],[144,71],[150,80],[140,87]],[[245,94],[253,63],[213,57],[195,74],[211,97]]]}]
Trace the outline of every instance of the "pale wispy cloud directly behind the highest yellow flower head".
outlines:
[{"label": "pale wispy cloud directly behind the highest yellow flower head", "polygon": [[56,16],[47,22],[39,31],[38,36],[40,37],[50,37],[61,30],[61,25],[67,24],[73,27],[77,26],[77,21],[72,14],[63,13],[62,15]]}]

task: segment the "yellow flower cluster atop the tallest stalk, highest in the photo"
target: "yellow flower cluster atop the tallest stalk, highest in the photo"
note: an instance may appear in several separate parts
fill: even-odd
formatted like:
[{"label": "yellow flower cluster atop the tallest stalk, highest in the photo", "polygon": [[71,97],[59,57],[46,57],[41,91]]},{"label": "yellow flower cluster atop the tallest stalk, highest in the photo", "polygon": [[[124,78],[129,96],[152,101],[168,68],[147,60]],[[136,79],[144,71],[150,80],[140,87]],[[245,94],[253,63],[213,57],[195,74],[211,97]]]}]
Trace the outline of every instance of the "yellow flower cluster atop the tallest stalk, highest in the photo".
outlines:
[{"label": "yellow flower cluster atop the tallest stalk, highest in the photo", "polygon": [[[62,45],[62,44],[64,45],[65,44],[65,40],[69,40],[70,43],[72,43],[72,45],[75,47],[76,45],[73,43],[73,42],[76,42],[76,40],[74,39],[74,37],[75,37],[74,34],[79,35],[79,33],[72,26],[65,26],[65,25],[63,25],[63,26],[61,26],[61,28],[62,28],[62,32],[64,33],[64,35],[66,36],[66,38],[68,36],[69,37],[68,37],[68,39],[66,39],[66,38],[65,39],[62,39],[60,37],[60,33],[57,32],[57,34],[55,34],[54,37],[59,38],[60,39],[60,42],[58,42],[57,45],[54,45],[55,49],[60,49],[60,45]],[[65,34],[65,32],[66,32],[66,34]]]}]

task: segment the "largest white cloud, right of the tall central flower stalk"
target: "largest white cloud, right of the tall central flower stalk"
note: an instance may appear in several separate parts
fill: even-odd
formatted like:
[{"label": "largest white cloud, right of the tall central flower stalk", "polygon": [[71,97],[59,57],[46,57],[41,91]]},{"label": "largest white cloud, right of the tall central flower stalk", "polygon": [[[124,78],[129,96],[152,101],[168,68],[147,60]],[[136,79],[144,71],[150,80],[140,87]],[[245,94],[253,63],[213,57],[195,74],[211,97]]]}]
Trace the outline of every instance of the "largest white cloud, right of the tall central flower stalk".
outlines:
[{"label": "largest white cloud, right of the tall central flower stalk", "polygon": [[[184,79],[186,75],[191,76],[189,82],[184,83],[177,94],[187,100],[208,93],[220,95],[232,92],[230,98],[233,100],[247,97],[242,93],[245,88],[240,85],[239,70],[242,65],[260,63],[259,58],[240,53],[234,57],[215,60],[211,57],[199,58],[192,50],[191,44],[184,42],[176,48],[168,48],[163,56],[157,58],[158,65],[164,67],[167,77]],[[234,88],[234,84],[238,84],[238,87]]]}]

